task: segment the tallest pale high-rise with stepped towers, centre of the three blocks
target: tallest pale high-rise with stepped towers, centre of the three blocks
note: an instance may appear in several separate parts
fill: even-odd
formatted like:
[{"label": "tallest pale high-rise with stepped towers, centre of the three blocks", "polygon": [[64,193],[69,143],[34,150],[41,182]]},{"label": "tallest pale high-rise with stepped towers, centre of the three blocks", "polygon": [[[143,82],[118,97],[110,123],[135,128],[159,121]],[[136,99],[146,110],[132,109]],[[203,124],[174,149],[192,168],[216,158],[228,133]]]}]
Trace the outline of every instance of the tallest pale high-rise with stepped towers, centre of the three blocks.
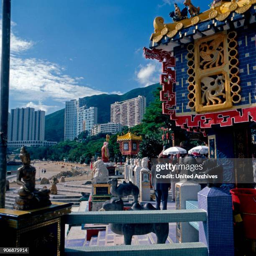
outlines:
[{"label": "tallest pale high-rise with stepped towers, centre of the three blocks", "polygon": [[64,140],[73,140],[79,133],[90,131],[97,123],[97,108],[86,107],[85,99],[70,100],[65,103]]}]

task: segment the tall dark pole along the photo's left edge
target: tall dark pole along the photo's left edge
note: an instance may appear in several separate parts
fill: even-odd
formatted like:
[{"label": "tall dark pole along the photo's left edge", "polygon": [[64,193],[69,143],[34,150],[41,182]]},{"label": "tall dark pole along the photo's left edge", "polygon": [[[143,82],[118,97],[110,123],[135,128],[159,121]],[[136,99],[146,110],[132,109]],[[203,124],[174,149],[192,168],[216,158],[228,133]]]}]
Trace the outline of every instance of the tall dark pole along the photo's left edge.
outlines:
[{"label": "tall dark pole along the photo's left edge", "polygon": [[2,1],[2,57],[0,89],[0,208],[5,207],[10,73],[10,0]]}]

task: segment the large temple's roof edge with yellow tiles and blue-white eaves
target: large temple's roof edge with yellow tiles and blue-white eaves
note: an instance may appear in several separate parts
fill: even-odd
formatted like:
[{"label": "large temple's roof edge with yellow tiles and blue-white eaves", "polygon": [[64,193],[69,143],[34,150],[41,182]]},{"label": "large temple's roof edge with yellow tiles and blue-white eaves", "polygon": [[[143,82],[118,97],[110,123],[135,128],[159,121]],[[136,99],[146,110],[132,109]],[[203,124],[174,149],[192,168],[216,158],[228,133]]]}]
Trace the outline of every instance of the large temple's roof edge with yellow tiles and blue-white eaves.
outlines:
[{"label": "large temple's roof edge with yellow tiles and blue-white eaves", "polygon": [[154,19],[154,33],[150,37],[150,48],[171,42],[173,45],[170,50],[172,50],[179,44],[185,44],[192,39],[202,37],[202,33],[208,36],[218,31],[227,30],[231,23],[233,23],[234,28],[242,27],[247,11],[249,23],[256,21],[256,0],[218,2],[220,2],[219,6],[174,23],[164,23],[163,18],[156,17]]}]

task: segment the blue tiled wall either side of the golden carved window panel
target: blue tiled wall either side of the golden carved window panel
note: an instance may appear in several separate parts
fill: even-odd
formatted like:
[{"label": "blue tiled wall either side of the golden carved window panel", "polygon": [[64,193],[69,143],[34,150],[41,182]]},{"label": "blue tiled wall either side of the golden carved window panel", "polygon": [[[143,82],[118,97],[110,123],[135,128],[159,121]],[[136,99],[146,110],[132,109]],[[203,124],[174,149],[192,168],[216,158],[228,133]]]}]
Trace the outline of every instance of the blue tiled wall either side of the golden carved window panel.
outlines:
[{"label": "blue tiled wall either side of the golden carved window panel", "polygon": [[[234,105],[239,106],[256,102],[256,33],[247,27],[236,32],[238,33],[236,40],[242,101]],[[174,56],[176,58],[176,113],[191,112],[190,108],[187,108],[187,44],[174,48]]]}]

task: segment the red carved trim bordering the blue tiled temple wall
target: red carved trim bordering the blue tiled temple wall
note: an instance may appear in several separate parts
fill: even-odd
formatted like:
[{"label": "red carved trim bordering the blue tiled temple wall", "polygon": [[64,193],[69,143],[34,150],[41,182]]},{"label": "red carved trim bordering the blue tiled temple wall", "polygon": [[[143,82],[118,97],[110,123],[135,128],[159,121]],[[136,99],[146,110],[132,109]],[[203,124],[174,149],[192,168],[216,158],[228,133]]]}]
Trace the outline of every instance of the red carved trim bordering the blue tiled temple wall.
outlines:
[{"label": "red carved trim bordering the blue tiled temple wall", "polygon": [[160,76],[160,84],[163,90],[160,91],[160,100],[163,101],[163,114],[170,115],[171,120],[175,120],[176,125],[187,131],[202,132],[206,136],[205,128],[212,125],[220,124],[220,126],[230,126],[233,123],[256,121],[256,107],[242,108],[220,111],[215,113],[205,113],[198,115],[180,115],[177,116],[175,110],[175,92],[173,92],[173,83],[175,83],[175,58],[171,53],[162,51],[161,49],[147,49],[144,47],[146,59],[157,59],[162,62],[163,68]]}]

